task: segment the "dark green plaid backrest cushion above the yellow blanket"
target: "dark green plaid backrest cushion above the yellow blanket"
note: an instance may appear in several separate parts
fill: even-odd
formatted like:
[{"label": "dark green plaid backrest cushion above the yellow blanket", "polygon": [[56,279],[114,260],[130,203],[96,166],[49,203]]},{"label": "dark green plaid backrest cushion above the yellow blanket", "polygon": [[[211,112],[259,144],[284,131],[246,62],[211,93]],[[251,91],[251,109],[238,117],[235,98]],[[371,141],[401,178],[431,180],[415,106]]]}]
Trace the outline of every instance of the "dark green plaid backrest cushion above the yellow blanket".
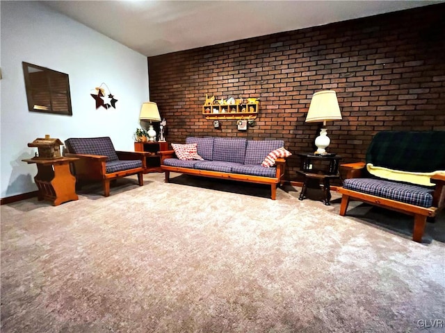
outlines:
[{"label": "dark green plaid backrest cushion above the yellow blanket", "polygon": [[382,131],[366,152],[366,162],[412,172],[445,170],[445,131]]}]

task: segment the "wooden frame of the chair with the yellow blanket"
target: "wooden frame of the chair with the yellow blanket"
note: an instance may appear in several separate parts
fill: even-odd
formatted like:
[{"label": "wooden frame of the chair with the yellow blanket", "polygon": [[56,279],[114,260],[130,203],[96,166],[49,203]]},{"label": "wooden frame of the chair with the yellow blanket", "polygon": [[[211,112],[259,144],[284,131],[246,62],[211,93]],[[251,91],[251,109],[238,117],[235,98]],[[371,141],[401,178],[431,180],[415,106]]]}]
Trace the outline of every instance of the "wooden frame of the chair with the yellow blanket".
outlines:
[{"label": "wooden frame of the chair with the yellow blanket", "polygon": [[[341,168],[347,172],[346,178],[360,178],[365,167],[366,163],[364,162],[341,164]],[[434,182],[436,187],[432,197],[432,207],[428,208],[411,205],[409,203],[402,203],[397,200],[382,198],[380,196],[373,196],[359,191],[344,189],[343,187],[337,187],[337,191],[343,195],[341,198],[340,215],[345,216],[350,200],[359,200],[364,203],[414,216],[412,240],[421,243],[427,217],[435,216],[438,207],[441,205],[440,200],[442,189],[444,189],[445,186],[445,174],[432,176],[431,182]]]}]

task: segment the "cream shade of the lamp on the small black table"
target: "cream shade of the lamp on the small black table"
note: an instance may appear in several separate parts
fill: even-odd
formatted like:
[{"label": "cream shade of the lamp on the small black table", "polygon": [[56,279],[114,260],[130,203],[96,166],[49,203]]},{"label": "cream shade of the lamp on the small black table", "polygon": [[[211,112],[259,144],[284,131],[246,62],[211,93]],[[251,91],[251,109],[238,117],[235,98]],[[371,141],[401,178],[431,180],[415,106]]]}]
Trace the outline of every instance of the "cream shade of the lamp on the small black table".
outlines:
[{"label": "cream shade of the lamp on the small black table", "polygon": [[316,92],[314,96],[312,96],[311,105],[309,105],[309,111],[306,116],[306,122],[323,122],[325,125],[326,121],[330,120],[341,120],[337,94],[334,90]]}]

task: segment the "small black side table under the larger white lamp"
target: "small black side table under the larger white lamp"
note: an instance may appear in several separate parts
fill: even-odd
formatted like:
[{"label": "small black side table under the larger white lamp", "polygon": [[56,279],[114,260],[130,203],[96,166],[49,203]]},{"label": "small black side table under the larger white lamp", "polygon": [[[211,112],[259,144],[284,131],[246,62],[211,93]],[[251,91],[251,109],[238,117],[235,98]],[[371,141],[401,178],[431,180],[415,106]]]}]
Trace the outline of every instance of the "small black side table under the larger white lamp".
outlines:
[{"label": "small black side table under the larger white lamp", "polygon": [[301,167],[297,172],[305,177],[298,199],[306,198],[308,188],[320,189],[321,183],[323,183],[323,203],[329,206],[331,204],[330,180],[340,178],[339,161],[341,156],[314,155],[312,153],[300,153],[298,156],[301,158]]}]

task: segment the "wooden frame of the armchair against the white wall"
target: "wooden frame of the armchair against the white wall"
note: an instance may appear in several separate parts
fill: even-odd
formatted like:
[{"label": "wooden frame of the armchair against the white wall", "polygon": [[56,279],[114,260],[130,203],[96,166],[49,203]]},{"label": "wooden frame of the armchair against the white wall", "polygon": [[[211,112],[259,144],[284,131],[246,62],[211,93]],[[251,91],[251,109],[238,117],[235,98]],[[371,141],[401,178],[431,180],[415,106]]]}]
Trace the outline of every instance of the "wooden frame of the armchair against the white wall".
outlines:
[{"label": "wooden frame of the armchair against the white wall", "polygon": [[110,196],[110,182],[117,178],[138,175],[138,185],[143,186],[143,171],[146,167],[145,155],[150,153],[145,152],[131,152],[131,151],[116,151],[119,160],[142,160],[143,167],[133,168],[128,170],[117,171],[113,173],[106,173],[106,159],[104,155],[87,155],[87,154],[73,154],[65,153],[66,157],[78,157],[79,160],[74,162],[74,174],[76,180],[79,182],[85,180],[102,181],[104,185],[104,196]]}]

